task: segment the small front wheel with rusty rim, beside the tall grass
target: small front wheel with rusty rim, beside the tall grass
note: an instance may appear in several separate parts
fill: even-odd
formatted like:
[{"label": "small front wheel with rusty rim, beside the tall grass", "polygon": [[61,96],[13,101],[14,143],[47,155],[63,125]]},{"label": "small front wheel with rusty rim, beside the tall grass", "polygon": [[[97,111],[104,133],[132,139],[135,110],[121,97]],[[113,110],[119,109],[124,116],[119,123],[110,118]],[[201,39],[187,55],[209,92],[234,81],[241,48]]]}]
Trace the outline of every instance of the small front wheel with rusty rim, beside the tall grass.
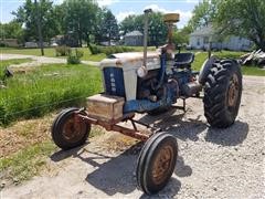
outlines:
[{"label": "small front wheel with rusty rim, beside the tall grass", "polygon": [[91,125],[84,121],[78,123],[74,121],[76,111],[78,108],[75,107],[63,109],[52,125],[53,142],[64,150],[85,144],[89,136]]}]

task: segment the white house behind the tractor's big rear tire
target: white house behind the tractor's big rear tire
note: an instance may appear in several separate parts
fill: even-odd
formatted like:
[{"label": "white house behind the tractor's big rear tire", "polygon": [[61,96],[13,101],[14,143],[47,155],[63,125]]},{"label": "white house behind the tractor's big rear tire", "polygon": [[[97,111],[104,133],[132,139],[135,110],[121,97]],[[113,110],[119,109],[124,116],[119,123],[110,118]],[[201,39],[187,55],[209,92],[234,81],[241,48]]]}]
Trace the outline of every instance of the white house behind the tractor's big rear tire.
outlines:
[{"label": "white house behind the tractor's big rear tire", "polygon": [[211,25],[195,30],[190,34],[190,46],[192,49],[209,48],[209,42],[212,42],[212,49],[225,49],[231,51],[250,51],[253,42],[241,36],[232,35],[223,41],[219,41]]}]

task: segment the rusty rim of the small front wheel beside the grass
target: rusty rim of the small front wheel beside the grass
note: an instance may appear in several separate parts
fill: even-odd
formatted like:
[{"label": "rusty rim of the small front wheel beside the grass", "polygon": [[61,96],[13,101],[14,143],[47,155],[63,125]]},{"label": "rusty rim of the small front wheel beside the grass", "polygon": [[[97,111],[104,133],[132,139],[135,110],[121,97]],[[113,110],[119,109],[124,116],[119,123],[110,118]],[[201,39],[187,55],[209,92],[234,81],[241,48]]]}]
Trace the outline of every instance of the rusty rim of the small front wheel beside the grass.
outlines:
[{"label": "rusty rim of the small front wheel beside the grass", "polygon": [[63,125],[63,137],[70,143],[76,143],[81,140],[86,133],[86,124],[84,122],[77,122],[74,116],[68,118]]}]

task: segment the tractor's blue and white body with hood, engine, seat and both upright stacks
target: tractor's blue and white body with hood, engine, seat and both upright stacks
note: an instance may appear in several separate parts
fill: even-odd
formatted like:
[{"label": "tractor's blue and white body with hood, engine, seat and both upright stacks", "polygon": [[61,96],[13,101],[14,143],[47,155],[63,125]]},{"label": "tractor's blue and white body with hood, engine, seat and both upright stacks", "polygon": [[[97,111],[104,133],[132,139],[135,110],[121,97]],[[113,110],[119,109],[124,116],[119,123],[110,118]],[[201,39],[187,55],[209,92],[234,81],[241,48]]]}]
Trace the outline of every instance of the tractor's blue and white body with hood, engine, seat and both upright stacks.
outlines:
[{"label": "tractor's blue and white body with hood, engine, seat and both upright stacks", "polygon": [[118,53],[100,62],[105,94],[124,98],[123,114],[169,107],[179,96],[192,96],[201,86],[191,72],[192,53],[173,54],[172,25],[179,14],[165,15],[168,44],[147,52],[148,13],[145,11],[144,53]]}]

